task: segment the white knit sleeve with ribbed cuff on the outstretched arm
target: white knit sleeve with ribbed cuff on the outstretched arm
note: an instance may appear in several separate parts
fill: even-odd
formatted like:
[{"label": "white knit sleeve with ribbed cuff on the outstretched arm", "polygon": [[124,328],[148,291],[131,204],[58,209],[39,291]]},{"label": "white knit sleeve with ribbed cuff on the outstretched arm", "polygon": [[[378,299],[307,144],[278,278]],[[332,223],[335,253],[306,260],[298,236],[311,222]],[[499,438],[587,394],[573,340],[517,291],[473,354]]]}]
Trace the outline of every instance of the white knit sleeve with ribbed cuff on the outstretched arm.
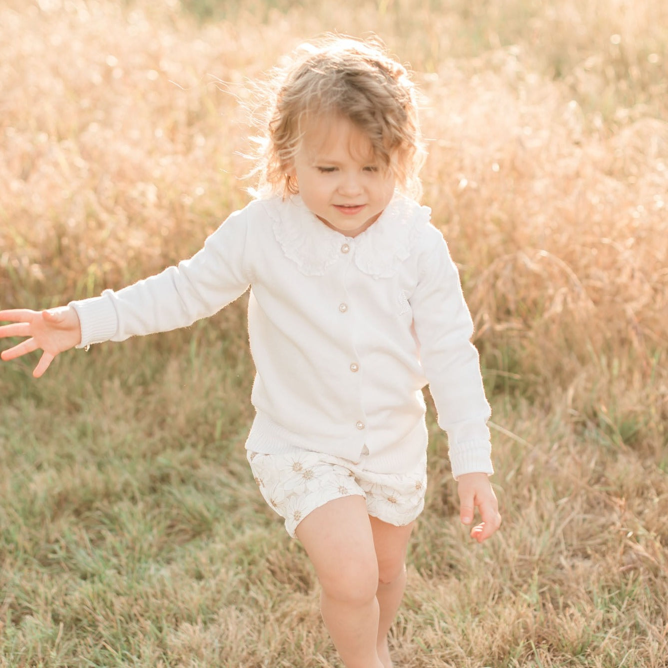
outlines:
[{"label": "white knit sleeve with ribbed cuff on the outstretched arm", "polygon": [[78,347],[187,327],[242,295],[250,283],[247,209],[229,216],[190,259],[117,292],[71,302],[81,323]]}]

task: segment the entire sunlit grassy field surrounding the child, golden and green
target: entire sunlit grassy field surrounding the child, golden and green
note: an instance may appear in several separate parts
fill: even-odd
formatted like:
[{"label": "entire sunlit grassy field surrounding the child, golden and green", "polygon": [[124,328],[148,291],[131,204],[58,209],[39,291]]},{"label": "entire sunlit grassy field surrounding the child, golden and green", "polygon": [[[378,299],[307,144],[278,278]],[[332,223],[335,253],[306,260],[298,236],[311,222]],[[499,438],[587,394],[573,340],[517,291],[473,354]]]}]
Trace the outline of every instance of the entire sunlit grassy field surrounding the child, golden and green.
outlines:
[{"label": "entire sunlit grassy field surrounding the child, golden and green", "polygon": [[[472,544],[430,411],[397,667],[668,665],[668,5],[5,0],[0,307],[120,287],[248,201],[248,81],[325,30],[424,94],[504,525]],[[0,667],[338,667],[243,444],[243,299],[0,366]]]}]

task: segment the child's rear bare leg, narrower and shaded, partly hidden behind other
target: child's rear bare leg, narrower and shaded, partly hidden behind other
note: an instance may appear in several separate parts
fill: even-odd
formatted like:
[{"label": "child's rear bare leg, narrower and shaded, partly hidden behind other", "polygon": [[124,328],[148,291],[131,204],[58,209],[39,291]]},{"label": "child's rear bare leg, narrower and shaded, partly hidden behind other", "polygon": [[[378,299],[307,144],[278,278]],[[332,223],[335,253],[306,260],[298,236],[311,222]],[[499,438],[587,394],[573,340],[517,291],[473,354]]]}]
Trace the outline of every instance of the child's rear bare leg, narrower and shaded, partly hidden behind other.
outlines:
[{"label": "child's rear bare leg, narrower and shaded, partly hidden behind other", "polygon": [[394,526],[369,517],[373,542],[378,559],[379,623],[377,636],[378,655],[384,668],[392,668],[387,645],[387,634],[397,615],[406,587],[406,549],[414,522],[407,526]]}]

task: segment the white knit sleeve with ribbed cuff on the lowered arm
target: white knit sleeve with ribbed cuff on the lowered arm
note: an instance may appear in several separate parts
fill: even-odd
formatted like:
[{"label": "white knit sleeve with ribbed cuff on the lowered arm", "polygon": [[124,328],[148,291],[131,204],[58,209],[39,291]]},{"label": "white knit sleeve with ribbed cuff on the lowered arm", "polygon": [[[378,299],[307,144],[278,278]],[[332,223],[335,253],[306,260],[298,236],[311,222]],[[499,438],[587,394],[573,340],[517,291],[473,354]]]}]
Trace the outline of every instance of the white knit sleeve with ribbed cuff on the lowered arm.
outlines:
[{"label": "white knit sleeve with ribbed cuff on the lowered arm", "polygon": [[421,259],[420,281],[411,299],[420,361],[438,412],[448,432],[452,474],[492,474],[490,405],[485,398],[478,351],[471,343],[473,321],[462,293],[459,273],[448,246],[430,228]]}]

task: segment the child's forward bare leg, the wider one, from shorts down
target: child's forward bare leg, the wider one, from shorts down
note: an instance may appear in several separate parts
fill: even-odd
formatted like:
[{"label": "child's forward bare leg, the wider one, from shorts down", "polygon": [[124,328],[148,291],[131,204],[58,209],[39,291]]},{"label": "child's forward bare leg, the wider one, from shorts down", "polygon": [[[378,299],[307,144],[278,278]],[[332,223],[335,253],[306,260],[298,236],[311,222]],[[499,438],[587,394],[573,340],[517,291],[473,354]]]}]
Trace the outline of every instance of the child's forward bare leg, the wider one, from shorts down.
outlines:
[{"label": "child's forward bare leg, the wider one, from shorts down", "polygon": [[346,668],[384,668],[377,651],[378,562],[364,498],[330,501],[296,533],[320,580],[323,620]]}]

